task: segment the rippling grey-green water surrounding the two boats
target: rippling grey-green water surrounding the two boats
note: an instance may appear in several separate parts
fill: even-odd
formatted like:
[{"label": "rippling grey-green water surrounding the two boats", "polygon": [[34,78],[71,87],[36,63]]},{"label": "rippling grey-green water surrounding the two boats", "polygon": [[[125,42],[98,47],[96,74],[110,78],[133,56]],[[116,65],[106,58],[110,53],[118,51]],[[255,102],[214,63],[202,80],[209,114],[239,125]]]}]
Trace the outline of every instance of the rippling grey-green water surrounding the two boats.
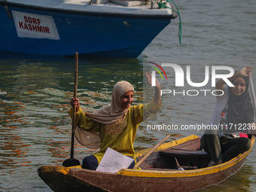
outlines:
[{"label": "rippling grey-green water surrounding the two boats", "polygon": [[[149,61],[190,65],[192,78],[199,80],[206,65],[226,65],[235,70],[256,67],[256,2],[199,0],[176,4],[182,19],[181,45],[178,20],[172,20],[138,59],[79,60],[78,98],[85,111],[107,105],[112,87],[120,80],[130,81],[136,88],[135,104],[143,102],[143,63]],[[51,191],[38,177],[37,169],[42,165],[59,165],[69,158],[71,120],[67,111],[73,94],[73,72],[73,59],[1,60],[0,191]],[[163,96],[163,103],[161,112],[165,116],[157,118],[157,122],[168,118],[177,124],[208,123],[215,98]],[[166,134],[146,130],[142,123],[136,136],[136,150],[151,147]],[[200,136],[194,131],[179,134]],[[76,159],[94,152],[75,143]],[[255,157],[253,148],[236,175],[202,191],[256,190]]]}]

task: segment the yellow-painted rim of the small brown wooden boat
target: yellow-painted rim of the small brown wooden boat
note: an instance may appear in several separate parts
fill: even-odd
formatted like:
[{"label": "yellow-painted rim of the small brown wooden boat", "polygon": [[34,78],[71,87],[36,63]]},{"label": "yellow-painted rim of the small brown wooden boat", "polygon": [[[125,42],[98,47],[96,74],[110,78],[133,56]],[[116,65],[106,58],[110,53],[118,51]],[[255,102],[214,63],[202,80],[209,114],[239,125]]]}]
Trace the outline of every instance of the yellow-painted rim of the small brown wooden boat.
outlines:
[{"label": "yellow-painted rim of the small brown wooden boat", "polygon": [[[181,143],[198,139],[198,136],[191,135],[184,137],[182,139],[178,139],[172,142],[165,143],[163,145],[160,145],[159,148],[157,148],[157,151],[163,150],[165,148],[168,148],[169,145],[175,146],[180,145]],[[243,154],[239,154],[238,156],[234,157],[232,160],[229,160],[225,163],[221,163],[218,166],[210,166],[206,168],[201,169],[190,169],[190,170],[182,170],[182,171],[176,171],[176,170],[153,170],[153,169],[120,169],[117,173],[109,173],[109,172],[97,172],[97,174],[110,174],[110,175],[121,175],[121,176],[130,176],[130,177],[143,177],[143,178],[188,178],[188,177],[197,177],[197,176],[203,176],[203,175],[209,175],[214,174],[217,172],[224,171],[225,169],[228,169],[232,166],[235,166],[236,163],[239,163],[240,161],[244,160],[245,157],[251,152],[251,149],[253,148],[255,138],[251,138],[251,148],[246,151]],[[151,148],[148,148],[150,150]],[[139,153],[140,155],[143,155],[146,153],[145,150],[142,150],[142,153]],[[139,152],[139,151],[138,151]],[[156,151],[155,151],[156,152]],[[71,167],[65,167],[65,166],[42,166],[44,169],[54,169],[56,172],[61,172],[64,175],[68,175],[69,171],[72,170],[72,172],[75,172],[76,170],[82,170],[85,172],[96,172],[94,170],[89,169],[82,169],[81,166],[71,166]],[[41,167],[41,168],[42,168]],[[232,174],[233,175],[233,174]]]}]

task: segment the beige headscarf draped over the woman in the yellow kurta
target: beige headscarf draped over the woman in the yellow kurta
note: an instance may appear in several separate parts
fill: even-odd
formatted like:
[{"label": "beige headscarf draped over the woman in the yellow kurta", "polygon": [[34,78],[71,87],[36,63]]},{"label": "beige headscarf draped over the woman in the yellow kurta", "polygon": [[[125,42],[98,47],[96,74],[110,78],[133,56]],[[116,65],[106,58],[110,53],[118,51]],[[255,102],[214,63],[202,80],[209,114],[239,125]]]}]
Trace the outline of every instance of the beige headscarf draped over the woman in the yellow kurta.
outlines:
[{"label": "beige headscarf draped over the woman in the yellow kurta", "polygon": [[[94,113],[85,113],[87,117],[95,120],[96,122],[106,125],[112,124],[125,117],[129,108],[123,108],[120,105],[120,97],[129,91],[134,91],[134,87],[127,81],[119,81],[114,85],[111,105],[99,108]],[[99,132],[92,132],[90,130],[84,130],[76,126],[75,137],[81,145],[87,148],[99,148],[101,142]]]}]

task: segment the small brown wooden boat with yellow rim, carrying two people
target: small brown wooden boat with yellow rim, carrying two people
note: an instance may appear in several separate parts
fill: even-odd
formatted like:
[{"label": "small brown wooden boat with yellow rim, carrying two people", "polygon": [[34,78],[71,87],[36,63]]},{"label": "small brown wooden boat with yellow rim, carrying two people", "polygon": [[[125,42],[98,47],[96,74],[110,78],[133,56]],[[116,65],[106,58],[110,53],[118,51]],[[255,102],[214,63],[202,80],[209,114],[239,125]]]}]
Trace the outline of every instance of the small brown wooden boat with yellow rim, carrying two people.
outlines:
[{"label": "small brown wooden boat with yellow rim, carrying two people", "polygon": [[[254,137],[251,148],[253,145]],[[142,163],[142,169],[106,173],[80,166],[41,166],[38,175],[54,191],[191,191],[221,183],[241,168],[251,151],[250,148],[226,163],[208,167],[211,158],[199,148],[200,138],[192,135],[160,145]],[[149,150],[137,152],[138,160]]]}]

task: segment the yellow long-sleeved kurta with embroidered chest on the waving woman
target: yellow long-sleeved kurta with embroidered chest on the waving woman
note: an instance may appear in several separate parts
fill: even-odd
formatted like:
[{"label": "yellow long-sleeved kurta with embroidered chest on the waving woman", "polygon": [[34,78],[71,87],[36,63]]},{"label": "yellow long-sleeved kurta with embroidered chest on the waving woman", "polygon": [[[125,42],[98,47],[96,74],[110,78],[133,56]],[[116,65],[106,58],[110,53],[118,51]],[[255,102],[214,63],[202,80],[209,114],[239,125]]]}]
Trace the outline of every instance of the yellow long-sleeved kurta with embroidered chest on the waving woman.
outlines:
[{"label": "yellow long-sleeved kurta with embroidered chest on the waving woman", "polygon": [[[136,137],[137,128],[143,121],[143,112],[145,117],[148,117],[151,114],[156,113],[159,108],[160,105],[157,105],[154,101],[149,102],[146,105],[133,105],[129,108],[125,117],[118,120],[118,123],[113,123],[111,125],[105,125],[91,120],[84,114],[83,110],[79,108],[76,114],[76,123],[84,130],[99,132],[101,139],[100,149],[99,152],[93,154],[99,163],[107,148],[112,148],[115,151],[133,157],[134,160],[136,160],[133,143]],[[72,109],[69,110],[69,115],[72,117]]]}]

